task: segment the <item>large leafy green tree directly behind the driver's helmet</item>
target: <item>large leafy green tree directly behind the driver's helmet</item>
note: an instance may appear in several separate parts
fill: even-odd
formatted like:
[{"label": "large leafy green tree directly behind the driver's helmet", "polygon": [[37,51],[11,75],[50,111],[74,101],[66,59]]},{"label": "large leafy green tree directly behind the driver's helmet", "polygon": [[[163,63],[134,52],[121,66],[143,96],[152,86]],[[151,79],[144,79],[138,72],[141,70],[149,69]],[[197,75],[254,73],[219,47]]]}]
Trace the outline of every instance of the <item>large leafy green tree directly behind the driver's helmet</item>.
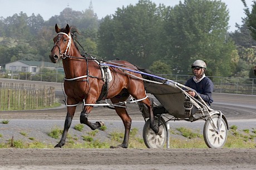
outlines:
[{"label": "large leafy green tree directly behind the driver's helmet", "polygon": [[235,45],[228,37],[229,14],[221,1],[185,0],[170,8],[165,18],[169,44],[166,60],[171,60],[175,74],[191,73],[190,65],[201,59],[208,65],[208,75],[232,74]]}]

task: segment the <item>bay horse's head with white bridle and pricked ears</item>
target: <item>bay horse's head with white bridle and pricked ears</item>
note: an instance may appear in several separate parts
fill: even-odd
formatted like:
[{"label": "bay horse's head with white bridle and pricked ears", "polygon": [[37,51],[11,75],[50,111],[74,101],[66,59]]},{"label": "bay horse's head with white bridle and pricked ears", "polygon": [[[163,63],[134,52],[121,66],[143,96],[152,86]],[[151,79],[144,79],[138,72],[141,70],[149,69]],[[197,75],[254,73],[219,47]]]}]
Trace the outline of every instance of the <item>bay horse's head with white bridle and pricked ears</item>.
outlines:
[{"label": "bay horse's head with white bridle and pricked ears", "polygon": [[55,31],[57,33],[56,37],[53,38],[54,46],[51,50],[50,59],[53,63],[56,63],[60,58],[66,58],[66,55],[69,55],[70,46],[71,46],[71,34],[70,26],[67,24],[66,28],[58,28],[58,25],[55,25]]}]

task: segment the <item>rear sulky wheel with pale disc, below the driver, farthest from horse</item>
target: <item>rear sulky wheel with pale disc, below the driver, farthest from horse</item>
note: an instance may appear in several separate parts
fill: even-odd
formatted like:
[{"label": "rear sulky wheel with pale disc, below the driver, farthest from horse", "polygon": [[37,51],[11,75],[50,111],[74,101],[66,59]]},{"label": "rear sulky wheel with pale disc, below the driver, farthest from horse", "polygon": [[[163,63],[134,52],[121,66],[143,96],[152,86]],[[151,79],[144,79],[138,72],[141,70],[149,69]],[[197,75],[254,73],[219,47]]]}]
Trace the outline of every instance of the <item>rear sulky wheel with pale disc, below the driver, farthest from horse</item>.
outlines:
[{"label": "rear sulky wheel with pale disc, below the driver, farthest from horse", "polygon": [[[211,121],[211,118],[213,121]],[[227,123],[222,117],[219,122],[219,115],[213,115],[211,118],[209,117],[204,124],[204,141],[209,148],[222,148],[225,145],[228,136]],[[220,123],[219,132],[214,127],[213,122],[216,128],[219,127]]]}]

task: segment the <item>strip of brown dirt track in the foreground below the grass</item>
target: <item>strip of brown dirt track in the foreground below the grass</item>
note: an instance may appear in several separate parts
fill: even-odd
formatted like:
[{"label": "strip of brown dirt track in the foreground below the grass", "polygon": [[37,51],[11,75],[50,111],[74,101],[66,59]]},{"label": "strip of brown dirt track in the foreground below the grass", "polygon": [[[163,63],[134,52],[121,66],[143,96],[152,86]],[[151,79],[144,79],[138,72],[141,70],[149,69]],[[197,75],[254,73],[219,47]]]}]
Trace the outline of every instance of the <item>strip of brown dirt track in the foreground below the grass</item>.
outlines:
[{"label": "strip of brown dirt track in the foreground below the grass", "polygon": [[2,149],[0,169],[255,169],[255,155],[255,149]]}]

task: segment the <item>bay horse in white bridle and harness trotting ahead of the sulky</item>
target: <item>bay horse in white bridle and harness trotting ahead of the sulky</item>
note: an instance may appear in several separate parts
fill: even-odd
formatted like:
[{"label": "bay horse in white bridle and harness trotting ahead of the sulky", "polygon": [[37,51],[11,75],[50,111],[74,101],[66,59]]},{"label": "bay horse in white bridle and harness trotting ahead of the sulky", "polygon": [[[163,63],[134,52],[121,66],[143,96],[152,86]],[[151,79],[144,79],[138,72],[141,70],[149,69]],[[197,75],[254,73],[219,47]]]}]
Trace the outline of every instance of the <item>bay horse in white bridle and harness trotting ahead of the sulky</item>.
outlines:
[{"label": "bay horse in white bridle and harness trotting ahead of the sulky", "polygon": [[[110,99],[112,104],[126,101],[131,95],[139,102],[145,104],[150,113],[150,127],[156,134],[161,135],[159,127],[155,125],[154,114],[152,111],[152,102],[147,98],[144,83],[136,77],[142,78],[140,73],[134,73],[129,70],[137,70],[135,65],[124,60],[112,60],[113,65],[122,66],[129,69],[124,71],[120,68],[110,66],[112,80],[107,84],[107,89],[104,85],[101,67],[95,59],[81,55],[80,50],[74,42],[74,35],[78,33],[76,27],[58,28],[55,25],[56,37],[53,38],[53,48],[50,53],[50,59],[56,63],[58,59],[62,59],[63,68],[65,71],[64,89],[67,95],[66,106],[67,116],[65,120],[64,130],[60,142],[55,147],[62,147],[66,143],[68,128],[71,126],[76,106],[81,102],[84,103],[83,110],[80,115],[80,123],[84,123],[92,130],[100,128],[101,122],[92,123],[87,117],[99,100]],[[108,63],[106,62],[106,63]],[[131,76],[132,75],[132,76]],[[134,77],[136,76],[136,77]],[[107,91],[105,95],[102,92]],[[103,96],[103,97],[102,97]],[[125,104],[123,107],[115,106],[117,115],[121,117],[125,126],[124,141],[121,145],[111,146],[111,148],[127,148],[129,142],[129,134],[131,128],[131,118],[127,114]]]}]

